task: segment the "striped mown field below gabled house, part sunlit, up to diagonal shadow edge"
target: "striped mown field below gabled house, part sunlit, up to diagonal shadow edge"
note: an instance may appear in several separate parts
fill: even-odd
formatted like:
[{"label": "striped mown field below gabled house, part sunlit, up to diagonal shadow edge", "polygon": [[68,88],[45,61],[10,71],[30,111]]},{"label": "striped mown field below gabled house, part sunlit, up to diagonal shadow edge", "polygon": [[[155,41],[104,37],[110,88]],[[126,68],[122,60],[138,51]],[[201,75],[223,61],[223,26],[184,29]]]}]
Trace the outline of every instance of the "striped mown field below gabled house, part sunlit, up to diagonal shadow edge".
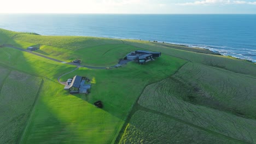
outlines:
[{"label": "striped mown field below gabled house, part sunlit, up to diagonal shadow edge", "polygon": [[45,80],[22,143],[111,143],[123,120]]}]

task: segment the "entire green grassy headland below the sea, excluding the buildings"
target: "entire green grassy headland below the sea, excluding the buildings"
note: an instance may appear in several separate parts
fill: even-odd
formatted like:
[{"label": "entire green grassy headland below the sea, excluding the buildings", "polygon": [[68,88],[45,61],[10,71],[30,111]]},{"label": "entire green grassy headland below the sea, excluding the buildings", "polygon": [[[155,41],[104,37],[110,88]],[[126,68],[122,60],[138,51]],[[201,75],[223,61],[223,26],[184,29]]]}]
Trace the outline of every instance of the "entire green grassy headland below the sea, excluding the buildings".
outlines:
[{"label": "entire green grassy headland below the sea, excluding the buildings", "polygon": [[[0,45],[0,143],[256,142],[254,63],[181,45],[5,29]],[[97,69],[136,50],[162,56]],[[74,75],[91,78],[90,94],[63,90],[58,78]]]}]

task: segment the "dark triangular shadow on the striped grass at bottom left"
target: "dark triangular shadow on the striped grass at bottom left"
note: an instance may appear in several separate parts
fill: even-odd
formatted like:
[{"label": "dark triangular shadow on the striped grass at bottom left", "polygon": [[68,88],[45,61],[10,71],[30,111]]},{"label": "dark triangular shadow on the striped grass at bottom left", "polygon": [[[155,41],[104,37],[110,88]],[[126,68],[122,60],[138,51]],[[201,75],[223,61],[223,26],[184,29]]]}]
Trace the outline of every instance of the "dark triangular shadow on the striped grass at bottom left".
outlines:
[{"label": "dark triangular shadow on the striped grass at bottom left", "polygon": [[[42,141],[45,143],[50,143],[51,141],[61,143],[63,142],[61,136],[71,135],[72,131],[68,131],[65,127],[66,124],[61,122],[52,110],[49,109],[49,106],[42,101],[38,101],[34,111],[33,121],[28,123],[21,143],[42,143]],[[62,131],[56,129],[62,129]]]}]

